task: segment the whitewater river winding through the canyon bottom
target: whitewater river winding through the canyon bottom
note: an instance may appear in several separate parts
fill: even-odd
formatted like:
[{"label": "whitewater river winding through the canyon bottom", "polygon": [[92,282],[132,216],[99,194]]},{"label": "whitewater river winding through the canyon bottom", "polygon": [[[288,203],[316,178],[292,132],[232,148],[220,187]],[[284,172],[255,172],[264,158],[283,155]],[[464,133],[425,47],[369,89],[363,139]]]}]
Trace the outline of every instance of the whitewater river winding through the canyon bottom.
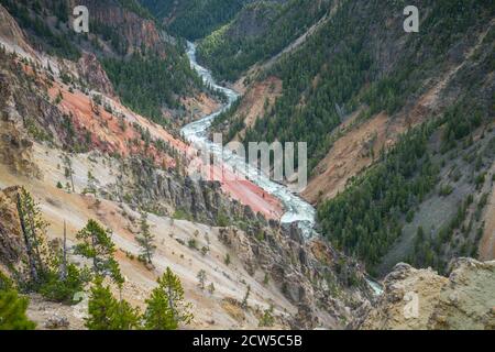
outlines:
[{"label": "whitewater river winding through the canyon bottom", "polygon": [[241,172],[248,179],[277,198],[285,211],[280,219],[282,223],[297,222],[305,238],[309,239],[315,235],[316,210],[311,205],[294,194],[288,187],[271,180],[267,176],[260,175],[258,170],[246,163],[244,158],[209,140],[208,129],[215,118],[229,109],[240,96],[234,90],[218,85],[212,77],[211,72],[198,64],[196,59],[196,45],[190,42],[187,43],[187,56],[189,57],[191,67],[196,69],[205,84],[210,85],[213,89],[222,91],[227,96],[228,102],[215,113],[184,127],[182,130],[184,138],[190,143],[210,150],[210,152],[220,157],[223,163],[238,172]]}]

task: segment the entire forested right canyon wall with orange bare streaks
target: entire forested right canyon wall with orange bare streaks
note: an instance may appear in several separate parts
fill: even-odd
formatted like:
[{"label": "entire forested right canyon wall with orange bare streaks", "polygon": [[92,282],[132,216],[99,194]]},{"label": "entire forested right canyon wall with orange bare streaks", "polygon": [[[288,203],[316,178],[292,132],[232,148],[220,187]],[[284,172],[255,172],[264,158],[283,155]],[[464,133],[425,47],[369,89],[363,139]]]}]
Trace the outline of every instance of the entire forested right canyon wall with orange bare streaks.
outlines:
[{"label": "entire forested right canyon wall with orange bare streaks", "polygon": [[384,117],[384,132],[371,128],[366,140],[339,146],[361,150],[350,163],[367,158],[371,167],[317,199],[322,232],[375,275],[400,261],[446,273],[452,257],[476,257],[493,187],[495,7],[424,1],[417,34],[404,32],[403,8],[340,2],[298,50],[257,76],[253,87],[283,81],[264,116],[245,125],[241,101],[215,124],[228,121],[226,134],[244,131],[244,142],[307,141],[315,178],[348,163],[322,163],[341,136]]}]

